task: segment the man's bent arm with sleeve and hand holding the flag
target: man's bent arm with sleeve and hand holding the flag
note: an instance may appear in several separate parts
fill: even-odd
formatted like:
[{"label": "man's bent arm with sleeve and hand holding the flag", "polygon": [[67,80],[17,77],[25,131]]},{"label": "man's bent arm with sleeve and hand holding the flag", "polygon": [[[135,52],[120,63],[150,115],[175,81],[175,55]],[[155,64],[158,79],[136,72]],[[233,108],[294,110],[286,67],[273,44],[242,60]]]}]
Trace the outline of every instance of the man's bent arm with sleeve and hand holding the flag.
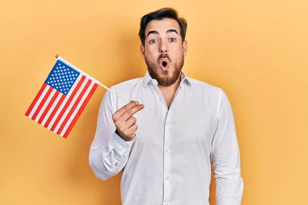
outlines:
[{"label": "man's bent arm with sleeve and hand holding the flag", "polygon": [[[137,125],[134,125],[136,120],[132,114],[139,111],[140,107],[130,103],[117,111],[116,100],[107,90],[100,106],[97,130],[90,147],[89,165],[95,176],[102,180],[117,175],[124,168],[135,139],[136,130],[133,128]],[[118,129],[115,125],[118,125]]]}]

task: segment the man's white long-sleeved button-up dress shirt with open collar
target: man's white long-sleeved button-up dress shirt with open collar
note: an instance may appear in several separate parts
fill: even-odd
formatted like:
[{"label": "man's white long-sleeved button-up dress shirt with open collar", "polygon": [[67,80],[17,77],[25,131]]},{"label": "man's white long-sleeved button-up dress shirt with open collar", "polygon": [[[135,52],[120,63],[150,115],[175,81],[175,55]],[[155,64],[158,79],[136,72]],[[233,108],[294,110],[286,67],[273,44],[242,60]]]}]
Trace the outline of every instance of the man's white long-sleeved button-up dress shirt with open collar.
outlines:
[{"label": "man's white long-sleeved button-up dress shirt with open collar", "polygon": [[115,134],[112,120],[126,103],[106,91],[89,153],[94,174],[106,180],[123,170],[123,205],[208,205],[212,168],[217,205],[239,205],[243,180],[226,94],[183,71],[168,110],[157,85],[146,72],[110,88],[145,106],[133,115],[138,130],[131,141]]}]

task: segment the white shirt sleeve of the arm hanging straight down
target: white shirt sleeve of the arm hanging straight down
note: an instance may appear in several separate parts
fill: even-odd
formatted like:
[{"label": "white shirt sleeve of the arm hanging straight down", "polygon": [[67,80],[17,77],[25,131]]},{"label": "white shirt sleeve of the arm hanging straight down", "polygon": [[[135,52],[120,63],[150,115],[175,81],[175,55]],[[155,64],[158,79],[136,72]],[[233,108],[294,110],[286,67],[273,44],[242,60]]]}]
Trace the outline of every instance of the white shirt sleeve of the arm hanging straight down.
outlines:
[{"label": "white shirt sleeve of the arm hanging straight down", "polygon": [[210,156],[216,180],[216,201],[217,205],[240,205],[243,179],[234,115],[226,94],[220,91],[217,127]]}]

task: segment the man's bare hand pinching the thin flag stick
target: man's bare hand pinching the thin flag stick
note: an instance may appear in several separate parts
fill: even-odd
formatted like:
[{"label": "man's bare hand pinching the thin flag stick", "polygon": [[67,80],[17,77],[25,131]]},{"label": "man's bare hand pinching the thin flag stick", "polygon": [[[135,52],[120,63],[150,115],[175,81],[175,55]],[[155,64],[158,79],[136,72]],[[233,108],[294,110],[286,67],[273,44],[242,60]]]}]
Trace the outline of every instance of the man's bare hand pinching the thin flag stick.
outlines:
[{"label": "man's bare hand pinching the thin flag stick", "polygon": [[139,105],[138,101],[132,100],[112,115],[114,125],[117,127],[115,132],[124,140],[130,141],[135,137],[138,126],[136,125],[137,119],[132,115],[143,108],[144,105]]}]

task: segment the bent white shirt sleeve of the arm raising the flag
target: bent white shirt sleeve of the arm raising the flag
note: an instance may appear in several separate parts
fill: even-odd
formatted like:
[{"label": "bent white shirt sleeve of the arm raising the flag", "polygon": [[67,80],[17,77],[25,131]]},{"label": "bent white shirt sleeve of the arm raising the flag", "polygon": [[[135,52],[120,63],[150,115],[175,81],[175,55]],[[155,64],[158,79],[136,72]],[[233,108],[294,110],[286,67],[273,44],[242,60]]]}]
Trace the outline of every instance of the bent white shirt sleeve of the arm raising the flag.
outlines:
[{"label": "bent white shirt sleeve of the arm raising the flag", "polygon": [[95,176],[102,180],[117,175],[124,168],[134,142],[134,139],[125,141],[115,134],[112,114],[117,111],[116,100],[107,90],[99,109],[97,130],[90,147],[89,165]]}]

